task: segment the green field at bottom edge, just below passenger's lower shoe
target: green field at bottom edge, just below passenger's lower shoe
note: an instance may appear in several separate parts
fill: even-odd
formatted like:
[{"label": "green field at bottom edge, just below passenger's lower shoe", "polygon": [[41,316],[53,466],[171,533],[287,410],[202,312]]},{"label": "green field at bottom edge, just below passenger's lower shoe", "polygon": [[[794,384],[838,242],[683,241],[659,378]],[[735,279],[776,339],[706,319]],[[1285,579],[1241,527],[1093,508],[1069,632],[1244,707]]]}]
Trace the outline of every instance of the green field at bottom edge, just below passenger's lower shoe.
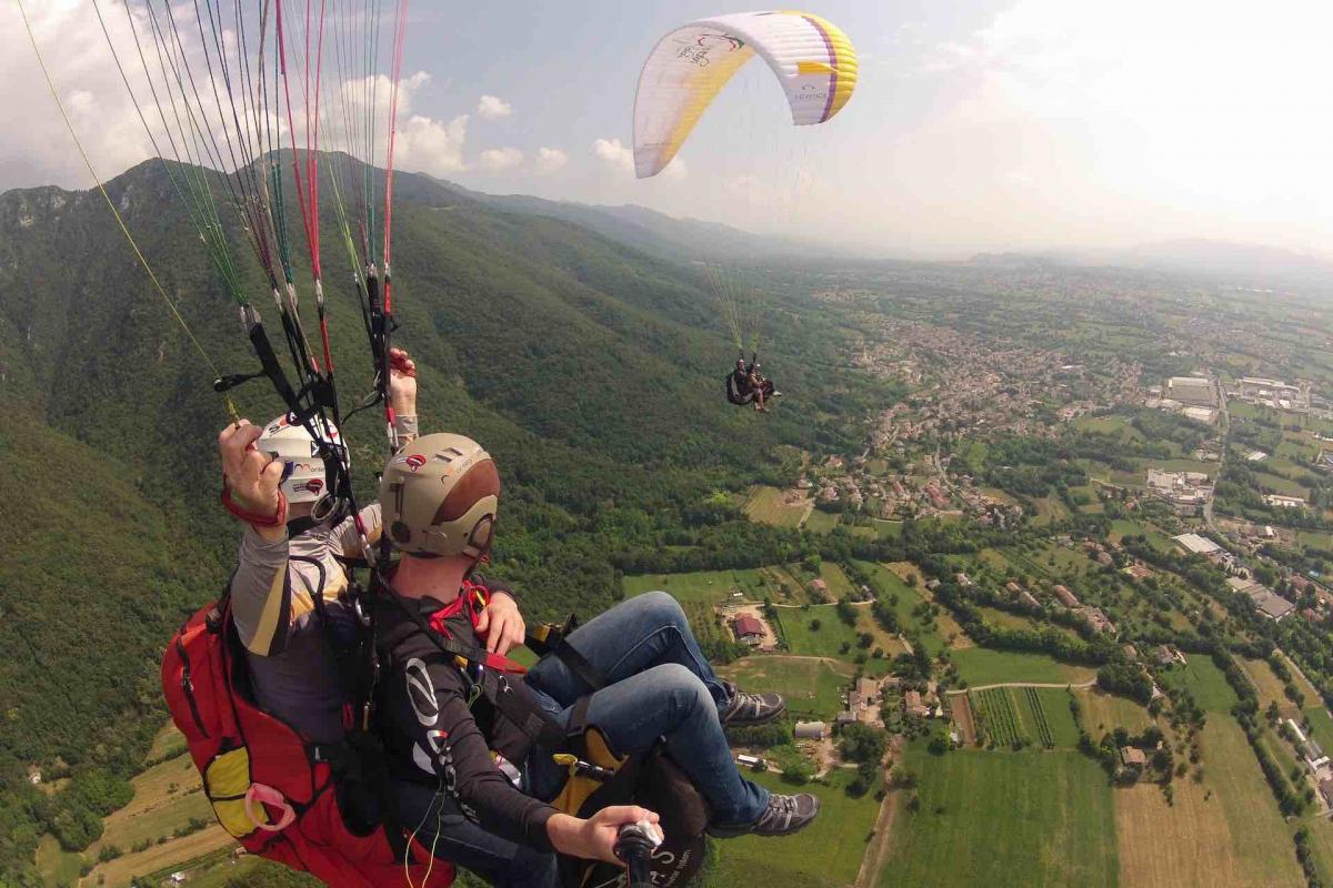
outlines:
[{"label": "green field at bottom edge, just below passenger's lower shoe", "polygon": [[[801,789],[820,796],[821,807],[818,819],[794,836],[746,836],[714,843],[718,863],[708,879],[709,888],[749,888],[754,884],[844,888],[854,883],[880,803],[873,792],[860,799],[850,797],[846,784],[852,776],[850,772],[834,772],[829,776],[829,785],[812,784]],[[753,777],[776,792],[794,791],[774,774]]]}]

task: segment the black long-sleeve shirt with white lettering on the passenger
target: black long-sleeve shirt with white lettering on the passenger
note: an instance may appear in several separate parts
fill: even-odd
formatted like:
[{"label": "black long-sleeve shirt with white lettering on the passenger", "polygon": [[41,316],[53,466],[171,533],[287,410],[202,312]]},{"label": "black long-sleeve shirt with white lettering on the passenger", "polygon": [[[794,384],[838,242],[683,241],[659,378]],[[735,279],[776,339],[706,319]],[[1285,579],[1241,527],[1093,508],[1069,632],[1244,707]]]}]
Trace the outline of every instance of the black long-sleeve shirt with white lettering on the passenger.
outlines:
[{"label": "black long-sleeve shirt with white lettering on the passenger", "polygon": [[[501,591],[499,584],[491,586]],[[416,602],[404,603],[411,607]],[[429,618],[444,604],[425,598],[420,607],[423,616]],[[381,626],[401,626],[408,619],[395,606],[384,608]],[[451,619],[448,628],[460,642],[485,644],[467,615]],[[397,642],[388,660],[389,674],[380,683],[380,712],[395,775],[439,784],[487,831],[552,851],[547,821],[556,809],[520,792],[491,754],[492,748],[513,743],[516,726],[503,716],[491,719],[485,727],[479,724],[468,706],[471,680],[455,658],[436,648],[420,630]],[[516,692],[527,691],[517,687],[521,684],[517,679],[513,684]]]}]

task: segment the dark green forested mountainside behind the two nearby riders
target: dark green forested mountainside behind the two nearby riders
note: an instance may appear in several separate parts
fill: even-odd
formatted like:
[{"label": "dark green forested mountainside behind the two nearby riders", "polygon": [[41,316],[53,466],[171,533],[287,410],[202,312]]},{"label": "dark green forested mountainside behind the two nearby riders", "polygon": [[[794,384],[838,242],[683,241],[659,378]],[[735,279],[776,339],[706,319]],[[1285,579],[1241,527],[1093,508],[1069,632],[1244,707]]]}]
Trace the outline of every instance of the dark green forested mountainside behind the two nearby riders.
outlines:
[{"label": "dark green forested mountainside behind the two nearby riders", "polygon": [[[157,161],[108,190],[219,370],[252,370]],[[665,250],[421,177],[399,180],[396,210],[396,341],[421,366],[423,427],[496,455],[496,566],[536,615],[596,612],[625,568],[760,563],[790,545],[718,493],[776,473],[780,445],[854,434],[844,407],[872,383],[834,382],[809,361],[837,347],[813,304],[780,297],[766,358],[790,395],[760,418],[724,402],[732,346],[698,273]],[[325,266],[351,402],[369,359],[345,258],[327,248]],[[259,269],[245,276],[265,312]],[[225,580],[236,527],[216,505],[227,417],[212,375],[100,196],[0,196],[0,883],[32,880],[40,832],[80,848],[100,829],[93,815],[124,800],[120,780],[160,724],[159,650]],[[257,421],[279,409],[265,385],[236,395]],[[377,425],[363,414],[348,430],[363,491],[381,458]],[[29,768],[48,789],[75,780],[48,795]]]}]

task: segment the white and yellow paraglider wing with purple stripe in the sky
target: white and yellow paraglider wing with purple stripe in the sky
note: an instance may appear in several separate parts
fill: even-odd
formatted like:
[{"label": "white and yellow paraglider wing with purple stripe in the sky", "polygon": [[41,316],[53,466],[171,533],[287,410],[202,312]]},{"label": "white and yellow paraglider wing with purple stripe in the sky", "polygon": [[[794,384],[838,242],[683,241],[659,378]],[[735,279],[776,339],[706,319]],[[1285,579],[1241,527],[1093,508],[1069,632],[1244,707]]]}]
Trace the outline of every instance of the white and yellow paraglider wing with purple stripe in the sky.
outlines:
[{"label": "white and yellow paraglider wing with purple stripe in the sky", "polygon": [[856,49],[808,12],[742,12],[701,19],[653,48],[635,97],[635,172],[660,173],[722,87],[756,53],[777,76],[792,122],[822,124],[856,89]]}]

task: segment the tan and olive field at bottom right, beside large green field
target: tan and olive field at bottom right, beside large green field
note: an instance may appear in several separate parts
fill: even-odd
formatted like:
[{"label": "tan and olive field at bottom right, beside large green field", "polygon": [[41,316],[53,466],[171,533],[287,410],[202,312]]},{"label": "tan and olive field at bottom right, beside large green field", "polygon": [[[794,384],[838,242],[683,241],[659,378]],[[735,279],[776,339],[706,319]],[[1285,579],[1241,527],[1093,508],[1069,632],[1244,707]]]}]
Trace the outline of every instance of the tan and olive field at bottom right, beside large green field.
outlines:
[{"label": "tan and olive field at bottom right, beside large green field", "polygon": [[1249,888],[1305,884],[1268,784],[1240,727],[1212,718],[1204,728],[1204,783],[1117,789],[1120,877],[1145,888]]}]

